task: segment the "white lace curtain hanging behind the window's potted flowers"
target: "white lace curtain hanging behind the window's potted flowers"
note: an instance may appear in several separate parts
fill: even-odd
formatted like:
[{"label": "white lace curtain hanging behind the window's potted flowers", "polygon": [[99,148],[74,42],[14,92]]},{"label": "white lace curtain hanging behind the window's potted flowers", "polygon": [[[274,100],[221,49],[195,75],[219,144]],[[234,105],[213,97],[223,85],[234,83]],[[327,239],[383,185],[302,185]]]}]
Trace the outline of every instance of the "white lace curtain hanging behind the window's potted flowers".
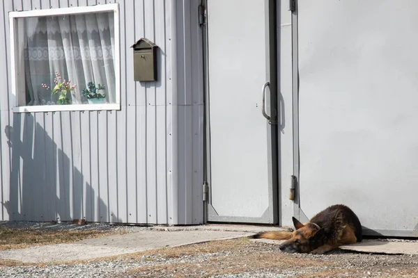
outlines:
[{"label": "white lace curtain hanging behind the window's potted flowers", "polygon": [[70,104],[87,103],[82,90],[90,81],[104,85],[108,103],[116,102],[114,13],[26,17],[23,26],[26,105],[57,103],[55,72],[77,85],[67,94]]}]

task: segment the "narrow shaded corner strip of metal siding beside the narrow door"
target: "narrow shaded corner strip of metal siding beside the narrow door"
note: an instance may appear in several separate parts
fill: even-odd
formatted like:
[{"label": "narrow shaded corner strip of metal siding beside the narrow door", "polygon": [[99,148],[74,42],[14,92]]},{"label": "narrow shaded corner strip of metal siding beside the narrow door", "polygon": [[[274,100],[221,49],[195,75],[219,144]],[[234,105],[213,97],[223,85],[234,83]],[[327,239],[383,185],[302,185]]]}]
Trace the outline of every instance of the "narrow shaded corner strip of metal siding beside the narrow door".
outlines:
[{"label": "narrow shaded corner strip of metal siding beside the narrow door", "polygon": [[[200,1],[178,0],[178,206],[180,222],[203,215],[203,59],[198,7]],[[196,186],[199,185],[199,186]],[[200,204],[200,205],[199,205]]]}]

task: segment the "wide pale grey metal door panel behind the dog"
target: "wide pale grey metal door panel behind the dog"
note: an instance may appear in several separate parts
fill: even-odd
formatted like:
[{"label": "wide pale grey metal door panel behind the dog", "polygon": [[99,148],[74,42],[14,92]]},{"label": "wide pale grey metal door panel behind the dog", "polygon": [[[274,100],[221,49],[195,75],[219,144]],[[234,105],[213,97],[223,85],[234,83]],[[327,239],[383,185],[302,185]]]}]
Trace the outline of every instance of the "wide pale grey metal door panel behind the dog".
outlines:
[{"label": "wide pale grey metal door panel behind the dog", "polygon": [[418,236],[418,2],[297,6],[302,211],[343,203],[365,234]]}]

